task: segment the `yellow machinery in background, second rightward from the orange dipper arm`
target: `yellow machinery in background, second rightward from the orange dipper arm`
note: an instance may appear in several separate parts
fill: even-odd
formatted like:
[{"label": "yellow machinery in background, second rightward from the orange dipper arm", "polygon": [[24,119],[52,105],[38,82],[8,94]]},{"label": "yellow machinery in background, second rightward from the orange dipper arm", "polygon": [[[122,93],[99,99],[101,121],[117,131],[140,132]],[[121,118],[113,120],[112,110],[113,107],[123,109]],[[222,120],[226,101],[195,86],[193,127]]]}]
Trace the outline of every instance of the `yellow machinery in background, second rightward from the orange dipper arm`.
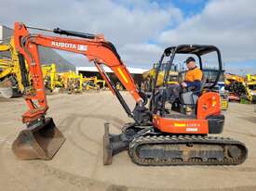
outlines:
[{"label": "yellow machinery in background, second rightward from the orange dipper arm", "polygon": [[68,94],[81,93],[83,91],[83,75],[76,74],[70,70],[68,72],[59,73],[61,76],[61,83],[63,83],[64,90]]}]

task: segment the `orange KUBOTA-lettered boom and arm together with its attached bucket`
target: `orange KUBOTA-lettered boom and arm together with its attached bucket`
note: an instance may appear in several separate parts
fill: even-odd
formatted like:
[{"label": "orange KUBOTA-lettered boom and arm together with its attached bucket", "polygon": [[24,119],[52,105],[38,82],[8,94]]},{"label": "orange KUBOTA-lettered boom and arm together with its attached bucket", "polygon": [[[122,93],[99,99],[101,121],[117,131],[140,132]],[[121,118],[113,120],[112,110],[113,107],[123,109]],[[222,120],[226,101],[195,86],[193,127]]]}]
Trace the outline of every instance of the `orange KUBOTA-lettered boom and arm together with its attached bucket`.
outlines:
[{"label": "orange KUBOTA-lettered boom and arm together with its attached bucket", "polygon": [[25,87],[24,98],[29,109],[22,115],[22,121],[27,124],[28,128],[20,132],[20,135],[13,144],[13,151],[18,158],[51,159],[65,140],[52,119],[45,119],[48,106],[38,45],[88,57],[89,61],[94,62],[102,78],[118,98],[128,116],[133,117],[135,120],[141,119],[141,117],[138,117],[140,112],[134,112],[136,115],[131,112],[125,100],[115,89],[115,85],[101,67],[101,65],[106,65],[113,70],[116,77],[124,84],[130,95],[133,96],[139,108],[143,107],[143,100],[139,91],[128,69],[116,52],[115,46],[105,41],[102,35],[63,31],[59,28],[52,31],[58,34],[79,37],[63,38],[31,34],[28,29],[29,27],[23,23],[15,23],[14,37],[15,46],[19,52],[18,56],[21,63],[24,64],[24,60],[27,61],[29,73],[32,77],[32,84],[28,82],[27,78],[22,77],[22,83]]}]

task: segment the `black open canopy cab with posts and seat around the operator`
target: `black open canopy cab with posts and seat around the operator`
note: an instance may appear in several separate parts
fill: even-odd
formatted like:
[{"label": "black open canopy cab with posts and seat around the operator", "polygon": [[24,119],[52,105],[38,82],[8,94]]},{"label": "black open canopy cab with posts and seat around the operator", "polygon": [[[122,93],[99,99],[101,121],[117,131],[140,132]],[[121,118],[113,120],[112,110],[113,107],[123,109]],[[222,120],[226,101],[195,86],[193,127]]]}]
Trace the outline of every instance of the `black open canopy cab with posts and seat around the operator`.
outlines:
[{"label": "black open canopy cab with posts and seat around the operator", "polygon": [[[216,53],[217,55],[217,62],[218,62],[218,68],[215,68],[216,71],[214,73],[214,78],[210,79],[207,78],[207,66],[204,67],[202,56],[212,55],[211,53]],[[193,55],[195,58],[197,58],[197,64],[200,70],[203,71],[203,78],[201,80],[201,86],[199,90],[189,88],[189,89],[183,89],[182,93],[177,99],[174,104],[169,106],[168,100],[166,100],[166,96],[161,96],[161,102],[163,103],[161,107],[157,108],[157,104],[155,103],[155,96],[158,94],[161,94],[161,92],[164,92],[163,90],[168,88],[168,79],[169,79],[169,71],[175,67],[175,58],[179,55],[186,55],[187,57],[190,57]],[[212,57],[212,56],[211,56]],[[163,60],[168,59],[167,62],[165,62],[165,73],[163,77],[163,85],[161,87],[157,86],[156,82],[158,79],[159,71],[163,70]],[[180,62],[181,63],[181,62]],[[177,68],[177,65],[176,65]],[[183,67],[182,67],[183,68]],[[206,72],[205,72],[206,71]],[[178,77],[178,82],[182,83],[182,76],[184,77],[185,71],[180,72]],[[203,91],[214,91],[214,88],[216,88],[216,85],[219,82],[220,77],[222,76],[222,57],[220,50],[214,46],[214,45],[178,45],[178,46],[170,46],[165,49],[162,57],[160,58],[159,64],[156,68],[155,73],[155,88],[153,89],[153,96],[151,99],[150,108],[153,110],[153,112],[160,113],[162,117],[165,115],[168,115],[169,113],[173,113],[173,111],[178,111],[179,113],[185,114],[182,116],[182,118],[195,118],[196,115],[196,104],[198,97],[203,94]],[[159,79],[158,79],[159,80]],[[171,108],[168,108],[171,107]],[[188,109],[190,108],[190,109]],[[173,117],[173,115],[172,115]],[[181,116],[179,116],[181,117]]]}]

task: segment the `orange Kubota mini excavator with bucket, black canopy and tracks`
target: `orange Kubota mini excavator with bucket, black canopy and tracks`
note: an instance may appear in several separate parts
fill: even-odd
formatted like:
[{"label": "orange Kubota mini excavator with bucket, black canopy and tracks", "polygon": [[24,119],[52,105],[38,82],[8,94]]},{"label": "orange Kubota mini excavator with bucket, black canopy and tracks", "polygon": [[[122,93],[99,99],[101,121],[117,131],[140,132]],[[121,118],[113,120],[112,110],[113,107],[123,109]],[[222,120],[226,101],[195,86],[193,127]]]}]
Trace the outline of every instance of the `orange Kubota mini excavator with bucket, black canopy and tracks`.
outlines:
[{"label": "orange Kubota mini excavator with bucket, black canopy and tracks", "polygon": [[[75,38],[31,34],[28,29],[54,32]],[[149,108],[146,108],[147,96],[137,89],[115,46],[107,42],[103,35],[64,31],[59,28],[46,30],[25,26],[19,22],[15,23],[14,33],[20,62],[24,63],[24,60],[27,60],[29,73],[32,76],[32,83],[27,82],[25,75],[22,76],[26,89],[24,98],[29,110],[22,116],[27,128],[20,132],[12,145],[14,154],[19,159],[52,159],[65,141],[53,120],[46,118],[48,106],[38,45],[88,57],[89,61],[94,62],[128,116],[135,121],[126,124],[121,134],[109,134],[109,124],[105,123],[103,164],[111,164],[113,156],[124,150],[128,150],[132,161],[139,165],[236,165],[247,158],[247,147],[243,143],[231,138],[208,136],[208,134],[221,134],[224,123],[220,96],[211,91],[210,87],[209,91],[204,93],[188,91],[181,95],[183,98],[183,102],[179,103],[181,108],[186,104],[193,104],[187,103],[191,98],[195,101],[193,104],[195,112],[191,115],[182,111],[173,111],[166,106],[168,100],[165,90],[168,87],[168,74],[175,54],[195,54],[200,58],[201,55],[216,51],[222,66],[220,51],[215,46],[168,47],[159,61],[159,68],[155,74],[156,83],[163,59],[169,57],[163,86],[154,89]],[[133,111],[115,88],[115,84],[103,70],[102,65],[108,66],[115,72],[116,77],[134,98],[136,106]],[[202,67],[201,62],[200,66]],[[21,70],[25,72],[25,68],[21,67]],[[218,80],[217,78],[215,84]],[[215,84],[212,84],[212,87]]]}]

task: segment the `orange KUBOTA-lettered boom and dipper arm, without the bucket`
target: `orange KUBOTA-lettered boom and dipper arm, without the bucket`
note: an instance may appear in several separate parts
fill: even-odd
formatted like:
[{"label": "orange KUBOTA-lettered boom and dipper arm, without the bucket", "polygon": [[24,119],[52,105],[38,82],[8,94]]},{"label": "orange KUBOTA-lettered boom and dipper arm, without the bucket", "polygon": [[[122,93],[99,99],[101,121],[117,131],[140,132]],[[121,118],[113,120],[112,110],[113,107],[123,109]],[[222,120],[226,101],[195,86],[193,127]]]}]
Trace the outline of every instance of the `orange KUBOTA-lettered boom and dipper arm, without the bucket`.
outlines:
[{"label": "orange KUBOTA-lettered boom and dipper arm, without the bucket", "polygon": [[138,119],[138,116],[134,117],[133,114],[136,113],[137,115],[138,112],[135,111],[132,113],[130,111],[128,105],[119,92],[115,89],[115,85],[111,82],[110,78],[107,76],[101,66],[106,65],[115,72],[116,77],[135,99],[137,103],[137,110],[138,108],[139,110],[143,110],[143,100],[131,75],[128,72],[128,69],[119,57],[115,46],[105,41],[103,35],[63,31],[59,28],[51,31],[58,34],[79,37],[63,38],[59,36],[31,34],[28,31],[28,28],[29,27],[26,27],[23,23],[15,23],[15,46],[19,52],[20,62],[24,62],[24,59],[27,60],[29,73],[31,74],[33,81],[33,87],[31,87],[27,82],[28,80],[26,78],[22,78],[22,82],[27,90],[25,91],[26,94],[24,97],[29,107],[29,110],[22,116],[23,122],[31,122],[44,118],[48,108],[47,97],[44,90],[43,74],[40,67],[38,45],[73,52],[88,57],[89,61],[94,62],[97,69],[100,71],[102,78],[106,81],[115,96],[117,96],[121,105],[128,113],[128,116],[135,118],[135,120]]}]

